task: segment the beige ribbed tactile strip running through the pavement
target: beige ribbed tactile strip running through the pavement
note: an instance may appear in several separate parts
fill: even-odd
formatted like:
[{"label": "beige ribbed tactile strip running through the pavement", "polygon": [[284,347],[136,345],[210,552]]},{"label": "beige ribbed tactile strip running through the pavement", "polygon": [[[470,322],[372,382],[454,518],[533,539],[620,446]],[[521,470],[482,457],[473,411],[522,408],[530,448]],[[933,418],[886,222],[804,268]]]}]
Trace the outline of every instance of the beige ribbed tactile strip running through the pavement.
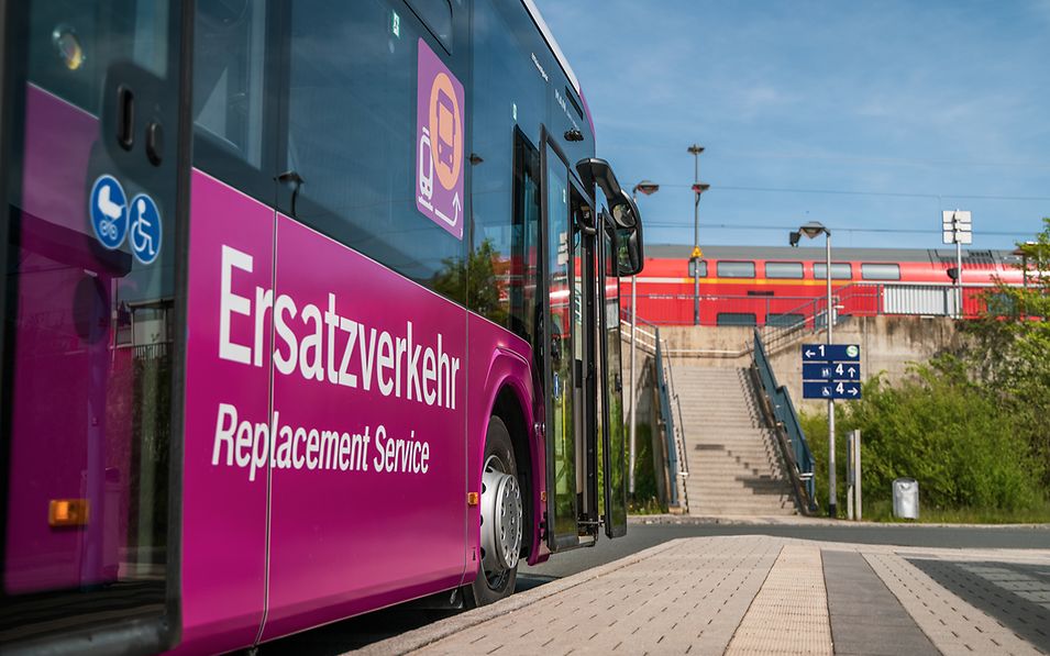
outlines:
[{"label": "beige ribbed tactile strip running through the pavement", "polygon": [[781,551],[726,654],[832,654],[820,549]]}]

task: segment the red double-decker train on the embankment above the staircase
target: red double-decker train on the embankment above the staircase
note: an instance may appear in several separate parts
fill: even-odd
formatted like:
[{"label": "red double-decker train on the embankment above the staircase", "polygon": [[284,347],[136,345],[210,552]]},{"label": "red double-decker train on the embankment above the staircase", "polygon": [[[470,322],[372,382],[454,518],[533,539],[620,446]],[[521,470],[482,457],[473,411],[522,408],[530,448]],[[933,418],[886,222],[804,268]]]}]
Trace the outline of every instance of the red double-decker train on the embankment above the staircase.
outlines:
[{"label": "red double-decker train on the embankment above the staircase", "polygon": [[[703,325],[793,325],[825,311],[822,248],[709,246],[699,262]],[[694,322],[689,246],[649,246],[638,277],[638,315],[657,324]],[[962,252],[963,315],[983,309],[984,292],[1002,280],[1024,282],[1009,251]],[[955,314],[954,248],[835,248],[831,278],[842,314]],[[621,281],[630,308],[630,279]]]}]

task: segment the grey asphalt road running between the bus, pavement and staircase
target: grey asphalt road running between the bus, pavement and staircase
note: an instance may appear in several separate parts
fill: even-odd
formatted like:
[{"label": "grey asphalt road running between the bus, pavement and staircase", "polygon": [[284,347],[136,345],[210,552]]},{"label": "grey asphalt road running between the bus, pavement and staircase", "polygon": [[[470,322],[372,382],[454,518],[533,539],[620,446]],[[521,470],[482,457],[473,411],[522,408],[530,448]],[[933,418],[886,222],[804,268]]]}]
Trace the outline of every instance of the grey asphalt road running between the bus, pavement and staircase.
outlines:
[{"label": "grey asphalt road running between the bus, pavement and staircase", "polygon": [[[672,520],[674,522],[674,520]],[[922,524],[715,524],[631,523],[626,537],[601,540],[594,547],[559,554],[537,567],[521,567],[518,589],[542,586],[551,580],[610,563],[677,537],[716,535],[773,535],[919,547],[957,548],[1050,548],[1050,526],[929,526]],[[263,654],[295,653],[297,656],[341,654],[447,618],[455,610],[395,607],[336,622],[259,647]]]}]

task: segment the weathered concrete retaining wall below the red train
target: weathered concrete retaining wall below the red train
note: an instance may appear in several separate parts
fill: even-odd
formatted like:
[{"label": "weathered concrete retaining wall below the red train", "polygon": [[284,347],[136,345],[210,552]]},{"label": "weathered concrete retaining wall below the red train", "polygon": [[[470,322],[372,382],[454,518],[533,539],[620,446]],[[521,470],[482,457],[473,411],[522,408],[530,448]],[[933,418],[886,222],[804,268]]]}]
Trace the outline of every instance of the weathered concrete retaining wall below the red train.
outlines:
[{"label": "weathered concrete retaining wall below the red train", "polygon": [[[753,331],[749,327],[666,326],[660,329],[675,364],[706,367],[751,365]],[[824,401],[803,401],[799,344],[827,340],[824,331],[770,354],[777,382],[787,387],[796,408],[817,410]],[[835,326],[837,344],[859,344],[863,379],[885,371],[889,381],[900,380],[913,363],[922,363],[948,347],[958,347],[955,321],[944,316],[852,316]],[[694,352],[694,353],[685,353]]]}]

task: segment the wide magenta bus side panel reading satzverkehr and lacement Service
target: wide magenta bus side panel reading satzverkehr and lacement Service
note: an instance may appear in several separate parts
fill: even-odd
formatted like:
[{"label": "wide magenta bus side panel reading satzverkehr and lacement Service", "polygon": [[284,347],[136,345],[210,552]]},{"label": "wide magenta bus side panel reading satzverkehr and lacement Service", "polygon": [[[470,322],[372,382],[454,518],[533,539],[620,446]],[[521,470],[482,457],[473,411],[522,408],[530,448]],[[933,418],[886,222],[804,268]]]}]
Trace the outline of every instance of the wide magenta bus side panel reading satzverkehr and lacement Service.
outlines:
[{"label": "wide magenta bus side panel reading satzverkehr and lacement Service", "polygon": [[467,511],[466,310],[283,215],[276,282],[264,640],[457,586]]}]

